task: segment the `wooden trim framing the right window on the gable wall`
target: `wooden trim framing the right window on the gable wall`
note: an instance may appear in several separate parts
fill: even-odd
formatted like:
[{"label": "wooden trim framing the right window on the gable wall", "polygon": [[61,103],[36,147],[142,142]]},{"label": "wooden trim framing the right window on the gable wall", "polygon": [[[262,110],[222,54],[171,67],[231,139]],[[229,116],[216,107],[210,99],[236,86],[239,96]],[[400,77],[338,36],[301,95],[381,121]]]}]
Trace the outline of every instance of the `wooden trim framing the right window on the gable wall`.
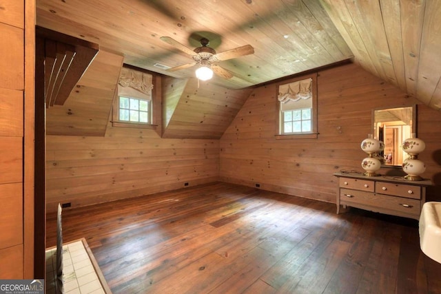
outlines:
[{"label": "wooden trim framing the right window on the gable wall", "polygon": [[[301,81],[306,78],[311,78],[311,92],[312,92],[312,109],[311,109],[311,132],[304,132],[304,133],[292,133],[292,134],[283,134],[283,117],[282,112],[280,109],[280,101],[278,101],[278,90],[280,85],[285,85],[289,83],[294,83],[296,81]],[[317,73],[314,74],[307,74],[305,76],[299,76],[296,78],[291,78],[289,80],[285,80],[281,83],[278,83],[276,85],[276,103],[277,103],[277,110],[278,110],[278,119],[276,120],[276,139],[296,139],[296,138],[318,138],[318,97],[317,97]]]}]

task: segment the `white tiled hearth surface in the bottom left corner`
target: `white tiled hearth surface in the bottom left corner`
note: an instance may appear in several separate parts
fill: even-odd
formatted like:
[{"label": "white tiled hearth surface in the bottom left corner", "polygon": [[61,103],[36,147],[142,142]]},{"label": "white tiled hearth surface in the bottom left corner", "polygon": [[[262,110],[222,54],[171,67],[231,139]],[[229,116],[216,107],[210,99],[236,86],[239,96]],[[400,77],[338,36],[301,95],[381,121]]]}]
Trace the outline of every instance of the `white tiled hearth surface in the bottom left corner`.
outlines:
[{"label": "white tiled hearth surface in the bottom left corner", "polygon": [[[46,251],[46,293],[55,294],[57,248]],[[81,240],[63,245],[63,293],[105,293]]]}]

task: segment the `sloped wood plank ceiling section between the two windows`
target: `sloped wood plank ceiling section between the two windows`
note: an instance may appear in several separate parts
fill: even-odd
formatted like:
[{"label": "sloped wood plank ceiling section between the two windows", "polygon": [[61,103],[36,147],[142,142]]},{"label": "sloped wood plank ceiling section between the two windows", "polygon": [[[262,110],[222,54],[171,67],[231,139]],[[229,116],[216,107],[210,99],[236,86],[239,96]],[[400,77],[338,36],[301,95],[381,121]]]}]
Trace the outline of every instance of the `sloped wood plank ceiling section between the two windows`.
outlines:
[{"label": "sloped wood plank ceiling section between the two windows", "polygon": [[252,89],[229,90],[196,78],[163,79],[163,138],[220,138]]}]

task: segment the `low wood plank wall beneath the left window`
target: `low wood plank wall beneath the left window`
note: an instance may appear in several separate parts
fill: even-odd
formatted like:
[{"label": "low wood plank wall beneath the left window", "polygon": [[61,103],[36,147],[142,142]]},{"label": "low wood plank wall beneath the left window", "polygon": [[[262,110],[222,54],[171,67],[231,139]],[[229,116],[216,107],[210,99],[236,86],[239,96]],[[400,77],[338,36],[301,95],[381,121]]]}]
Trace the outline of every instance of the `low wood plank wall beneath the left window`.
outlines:
[{"label": "low wood plank wall beneath the left window", "polygon": [[107,126],[105,137],[47,136],[47,210],[218,180],[219,140],[163,139],[153,129]]}]

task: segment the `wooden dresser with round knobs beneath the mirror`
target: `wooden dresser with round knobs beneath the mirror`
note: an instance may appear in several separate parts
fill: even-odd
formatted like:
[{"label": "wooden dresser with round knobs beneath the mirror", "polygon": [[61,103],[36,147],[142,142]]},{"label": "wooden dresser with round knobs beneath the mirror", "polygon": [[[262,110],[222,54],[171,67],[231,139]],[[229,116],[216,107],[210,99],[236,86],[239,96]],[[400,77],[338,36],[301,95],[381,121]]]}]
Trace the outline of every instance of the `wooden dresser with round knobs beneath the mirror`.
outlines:
[{"label": "wooden dresser with round knobs beneath the mirror", "polygon": [[367,177],[358,173],[336,173],[337,214],[340,205],[393,216],[420,219],[430,180],[409,181],[400,176]]}]

